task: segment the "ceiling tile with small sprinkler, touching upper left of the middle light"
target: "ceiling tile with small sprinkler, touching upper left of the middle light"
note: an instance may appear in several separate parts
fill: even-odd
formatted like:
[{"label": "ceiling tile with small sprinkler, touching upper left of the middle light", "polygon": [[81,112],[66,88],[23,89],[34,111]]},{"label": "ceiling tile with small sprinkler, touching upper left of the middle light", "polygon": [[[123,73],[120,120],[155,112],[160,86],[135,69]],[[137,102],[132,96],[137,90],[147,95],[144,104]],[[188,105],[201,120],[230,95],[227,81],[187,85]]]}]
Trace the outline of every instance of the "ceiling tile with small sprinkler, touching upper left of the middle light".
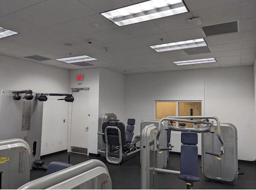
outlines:
[{"label": "ceiling tile with small sprinkler, touching upper left of the middle light", "polygon": [[[161,38],[163,40],[161,40]],[[172,40],[165,33],[144,36],[137,39],[140,40],[140,42],[142,42],[146,46],[152,46],[156,44],[166,44],[166,43],[172,42]]]}]

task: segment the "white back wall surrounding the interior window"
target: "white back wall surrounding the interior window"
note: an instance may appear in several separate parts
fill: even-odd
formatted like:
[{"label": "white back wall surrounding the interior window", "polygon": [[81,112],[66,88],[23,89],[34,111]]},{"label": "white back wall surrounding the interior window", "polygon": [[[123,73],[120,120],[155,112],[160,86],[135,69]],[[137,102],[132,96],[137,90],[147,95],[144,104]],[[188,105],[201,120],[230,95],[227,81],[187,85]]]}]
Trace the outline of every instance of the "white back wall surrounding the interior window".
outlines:
[{"label": "white back wall surrounding the interior window", "polygon": [[[255,150],[252,66],[126,75],[125,119],[136,119],[135,135],[143,119],[155,118],[156,100],[202,101],[202,115],[214,115],[237,127],[238,159],[255,159],[251,151]],[[173,151],[180,152],[179,133],[172,133],[171,143]],[[200,146],[198,141],[199,150]]]}]

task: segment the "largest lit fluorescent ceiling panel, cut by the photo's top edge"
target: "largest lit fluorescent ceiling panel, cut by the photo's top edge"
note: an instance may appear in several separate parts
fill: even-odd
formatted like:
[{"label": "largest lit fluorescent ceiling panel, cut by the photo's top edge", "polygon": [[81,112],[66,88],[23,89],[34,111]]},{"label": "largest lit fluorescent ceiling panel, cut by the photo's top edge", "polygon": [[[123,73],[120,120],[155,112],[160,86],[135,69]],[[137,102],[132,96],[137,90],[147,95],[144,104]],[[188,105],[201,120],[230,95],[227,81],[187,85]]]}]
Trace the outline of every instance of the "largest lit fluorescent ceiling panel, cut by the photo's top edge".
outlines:
[{"label": "largest lit fluorescent ceiling panel, cut by the photo's top edge", "polygon": [[188,12],[182,0],[150,0],[101,13],[118,26]]}]

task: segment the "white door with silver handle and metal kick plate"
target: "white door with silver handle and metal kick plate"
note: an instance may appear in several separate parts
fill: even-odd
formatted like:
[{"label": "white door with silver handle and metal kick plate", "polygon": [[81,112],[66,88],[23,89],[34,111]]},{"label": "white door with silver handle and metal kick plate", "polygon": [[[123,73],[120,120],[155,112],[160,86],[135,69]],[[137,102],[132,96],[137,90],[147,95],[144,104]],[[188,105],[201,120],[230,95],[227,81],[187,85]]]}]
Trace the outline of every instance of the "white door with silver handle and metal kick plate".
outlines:
[{"label": "white door with silver handle and metal kick plate", "polygon": [[88,154],[89,88],[72,89],[70,151]]}]

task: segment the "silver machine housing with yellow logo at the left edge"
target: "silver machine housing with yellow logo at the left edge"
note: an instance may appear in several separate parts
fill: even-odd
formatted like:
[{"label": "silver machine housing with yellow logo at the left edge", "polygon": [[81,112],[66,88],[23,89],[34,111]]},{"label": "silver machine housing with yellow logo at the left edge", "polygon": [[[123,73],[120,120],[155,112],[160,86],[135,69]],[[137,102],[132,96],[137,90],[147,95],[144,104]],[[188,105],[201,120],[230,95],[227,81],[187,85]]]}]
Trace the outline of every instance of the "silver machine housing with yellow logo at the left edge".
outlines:
[{"label": "silver machine housing with yellow logo at the left edge", "polygon": [[0,141],[0,189],[17,189],[29,182],[30,152],[22,139]]}]

